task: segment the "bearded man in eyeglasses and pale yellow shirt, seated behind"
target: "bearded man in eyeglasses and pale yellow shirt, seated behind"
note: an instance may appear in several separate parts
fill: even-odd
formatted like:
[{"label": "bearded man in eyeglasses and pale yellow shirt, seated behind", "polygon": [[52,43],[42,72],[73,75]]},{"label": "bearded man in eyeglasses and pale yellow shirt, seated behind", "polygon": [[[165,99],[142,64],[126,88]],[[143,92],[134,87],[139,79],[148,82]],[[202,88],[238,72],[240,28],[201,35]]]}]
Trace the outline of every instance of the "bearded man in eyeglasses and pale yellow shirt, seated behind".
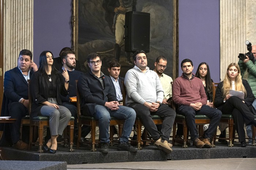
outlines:
[{"label": "bearded man in eyeglasses and pale yellow shirt, seated behind", "polygon": [[170,104],[168,102],[168,99],[172,97],[171,82],[173,81],[173,79],[170,76],[163,73],[165,71],[166,67],[167,67],[167,59],[164,56],[159,56],[155,60],[154,71],[159,76],[160,82],[163,87],[163,102],[162,102],[162,104]]}]

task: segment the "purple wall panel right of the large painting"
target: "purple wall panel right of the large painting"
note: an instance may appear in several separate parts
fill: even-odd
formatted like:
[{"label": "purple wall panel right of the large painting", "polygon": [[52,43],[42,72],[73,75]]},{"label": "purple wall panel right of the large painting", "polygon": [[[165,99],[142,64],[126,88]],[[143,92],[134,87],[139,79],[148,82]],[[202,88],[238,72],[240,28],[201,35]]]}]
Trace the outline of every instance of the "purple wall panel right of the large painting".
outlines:
[{"label": "purple wall panel right of the large painting", "polygon": [[201,62],[209,64],[211,78],[220,80],[219,0],[179,0],[180,63],[191,59],[193,73]]}]

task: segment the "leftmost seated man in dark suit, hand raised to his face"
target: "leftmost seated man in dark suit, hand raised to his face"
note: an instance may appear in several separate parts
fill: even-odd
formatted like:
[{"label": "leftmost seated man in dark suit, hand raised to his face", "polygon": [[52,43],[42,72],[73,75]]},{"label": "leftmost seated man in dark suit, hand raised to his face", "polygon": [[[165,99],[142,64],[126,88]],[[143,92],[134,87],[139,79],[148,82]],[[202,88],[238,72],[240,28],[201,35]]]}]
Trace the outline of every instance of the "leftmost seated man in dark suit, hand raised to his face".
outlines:
[{"label": "leftmost seated man in dark suit, hand raised to his face", "polygon": [[[16,149],[28,148],[28,144],[20,139],[20,122],[23,116],[29,114],[28,80],[31,79],[32,74],[37,70],[37,65],[32,62],[31,51],[22,50],[19,53],[18,66],[6,71],[4,74],[4,99],[1,115],[11,116],[11,118],[17,120],[15,123],[10,124],[10,134],[4,131],[5,137],[1,139],[1,145],[11,135],[11,141]],[[27,137],[29,137],[28,134]]]}]

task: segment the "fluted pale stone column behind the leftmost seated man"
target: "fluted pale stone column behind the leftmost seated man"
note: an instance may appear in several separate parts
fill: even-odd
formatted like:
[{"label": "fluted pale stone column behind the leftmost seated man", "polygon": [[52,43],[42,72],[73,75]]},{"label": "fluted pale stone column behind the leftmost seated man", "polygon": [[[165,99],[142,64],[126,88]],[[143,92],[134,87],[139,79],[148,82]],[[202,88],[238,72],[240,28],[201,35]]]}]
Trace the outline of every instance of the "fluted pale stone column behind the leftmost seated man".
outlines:
[{"label": "fluted pale stone column behind the leftmost seated man", "polygon": [[4,0],[4,70],[17,66],[20,50],[33,53],[34,0]]}]

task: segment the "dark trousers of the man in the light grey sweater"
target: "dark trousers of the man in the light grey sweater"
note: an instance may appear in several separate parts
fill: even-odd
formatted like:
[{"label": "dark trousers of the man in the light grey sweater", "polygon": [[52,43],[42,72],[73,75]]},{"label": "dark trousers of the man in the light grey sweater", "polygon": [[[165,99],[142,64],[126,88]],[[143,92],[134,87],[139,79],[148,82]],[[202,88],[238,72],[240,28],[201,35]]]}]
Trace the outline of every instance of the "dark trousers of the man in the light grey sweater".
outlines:
[{"label": "dark trousers of the man in the light grey sweater", "polygon": [[[167,104],[162,104],[156,112],[150,112],[146,106],[139,103],[128,104],[128,107],[135,110],[136,116],[142,120],[144,127],[155,141],[160,137],[166,141],[169,141],[176,116],[176,112],[172,108],[170,108]],[[163,118],[161,133],[157,130],[157,126],[153,122],[151,114],[159,115]]]}]

